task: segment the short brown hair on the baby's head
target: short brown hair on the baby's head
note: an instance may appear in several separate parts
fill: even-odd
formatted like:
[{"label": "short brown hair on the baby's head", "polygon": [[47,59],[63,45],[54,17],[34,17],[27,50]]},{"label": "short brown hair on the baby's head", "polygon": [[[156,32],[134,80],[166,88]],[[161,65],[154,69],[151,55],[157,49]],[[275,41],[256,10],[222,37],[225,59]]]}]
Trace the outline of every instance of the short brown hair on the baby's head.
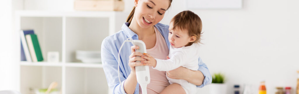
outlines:
[{"label": "short brown hair on the baby's head", "polygon": [[202,34],[202,20],[197,14],[190,10],[185,10],[175,15],[171,19],[171,22],[173,22],[173,30],[176,28],[187,30],[187,33],[190,37],[196,37],[194,42],[190,42],[186,46],[191,46],[193,43],[200,43],[200,36]]}]

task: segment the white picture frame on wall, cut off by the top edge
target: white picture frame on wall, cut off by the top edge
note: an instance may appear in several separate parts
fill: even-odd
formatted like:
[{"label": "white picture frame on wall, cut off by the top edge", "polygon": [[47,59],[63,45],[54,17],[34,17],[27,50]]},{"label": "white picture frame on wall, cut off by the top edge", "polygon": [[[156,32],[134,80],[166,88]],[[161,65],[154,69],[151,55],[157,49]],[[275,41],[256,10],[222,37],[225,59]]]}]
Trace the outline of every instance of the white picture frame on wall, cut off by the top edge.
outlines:
[{"label": "white picture frame on wall, cut off by the top edge", "polygon": [[188,9],[241,9],[242,0],[186,0]]}]

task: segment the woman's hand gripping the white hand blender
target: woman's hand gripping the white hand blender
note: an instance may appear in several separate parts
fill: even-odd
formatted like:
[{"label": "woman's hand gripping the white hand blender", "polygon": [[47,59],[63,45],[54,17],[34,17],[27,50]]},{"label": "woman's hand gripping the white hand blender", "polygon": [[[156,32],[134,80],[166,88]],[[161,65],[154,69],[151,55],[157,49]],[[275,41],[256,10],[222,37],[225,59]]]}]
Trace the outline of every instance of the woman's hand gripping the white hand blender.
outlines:
[{"label": "woman's hand gripping the white hand blender", "polygon": [[[138,49],[138,46],[131,46],[131,52],[132,54],[129,56],[129,66],[131,68],[131,72],[135,73],[135,66],[141,66],[144,65],[141,62],[135,62],[135,61],[145,61],[146,59],[141,58],[141,56],[144,56],[142,53],[136,52],[135,49]],[[140,56],[140,57],[136,57]]]}]

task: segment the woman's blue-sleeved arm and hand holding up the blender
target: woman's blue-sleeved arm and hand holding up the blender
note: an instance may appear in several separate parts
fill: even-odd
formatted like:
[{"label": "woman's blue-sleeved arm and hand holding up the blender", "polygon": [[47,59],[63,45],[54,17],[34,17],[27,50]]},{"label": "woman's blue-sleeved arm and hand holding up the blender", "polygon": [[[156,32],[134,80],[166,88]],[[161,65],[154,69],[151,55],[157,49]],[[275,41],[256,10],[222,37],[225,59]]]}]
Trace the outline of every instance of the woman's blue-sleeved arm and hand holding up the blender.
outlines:
[{"label": "woman's blue-sleeved arm and hand holding up the blender", "polygon": [[[138,87],[136,74],[135,74],[135,66],[142,65],[142,64],[129,62],[129,66],[131,68],[131,74],[129,74],[127,78],[123,74],[125,70],[120,68],[120,81],[121,81],[120,84],[118,80],[118,61],[117,61],[118,57],[115,57],[118,56],[118,54],[113,53],[114,50],[116,51],[117,49],[112,49],[111,44],[106,39],[104,39],[101,46],[101,54],[102,54],[101,59],[103,64],[103,70],[105,72],[109,88],[112,89],[113,93],[116,94],[122,94],[123,90],[125,90],[125,92],[128,94],[133,94],[135,93],[136,87]],[[130,60],[136,61],[140,59],[140,58],[135,58],[135,56],[137,55],[138,53],[135,54],[132,53],[130,55]],[[123,63],[127,63],[127,62],[123,62]],[[120,66],[123,66],[122,62],[120,62]],[[134,68],[134,71],[132,68]]]}]

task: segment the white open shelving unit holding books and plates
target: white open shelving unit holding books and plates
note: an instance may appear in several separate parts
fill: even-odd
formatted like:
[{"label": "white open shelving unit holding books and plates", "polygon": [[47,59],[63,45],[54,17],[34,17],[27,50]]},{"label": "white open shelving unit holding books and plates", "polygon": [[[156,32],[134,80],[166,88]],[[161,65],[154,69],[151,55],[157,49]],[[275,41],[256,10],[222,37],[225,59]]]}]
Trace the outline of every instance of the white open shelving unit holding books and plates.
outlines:
[{"label": "white open shelving unit holding books and plates", "polygon": [[[118,32],[129,13],[22,10],[15,15],[16,32],[33,29],[44,57],[43,62],[19,60],[22,94],[32,93],[32,88],[47,88],[54,81],[62,94],[111,93],[102,64],[82,63],[75,58],[75,51],[100,51],[102,40]],[[58,51],[59,62],[47,62],[48,51]]]}]

